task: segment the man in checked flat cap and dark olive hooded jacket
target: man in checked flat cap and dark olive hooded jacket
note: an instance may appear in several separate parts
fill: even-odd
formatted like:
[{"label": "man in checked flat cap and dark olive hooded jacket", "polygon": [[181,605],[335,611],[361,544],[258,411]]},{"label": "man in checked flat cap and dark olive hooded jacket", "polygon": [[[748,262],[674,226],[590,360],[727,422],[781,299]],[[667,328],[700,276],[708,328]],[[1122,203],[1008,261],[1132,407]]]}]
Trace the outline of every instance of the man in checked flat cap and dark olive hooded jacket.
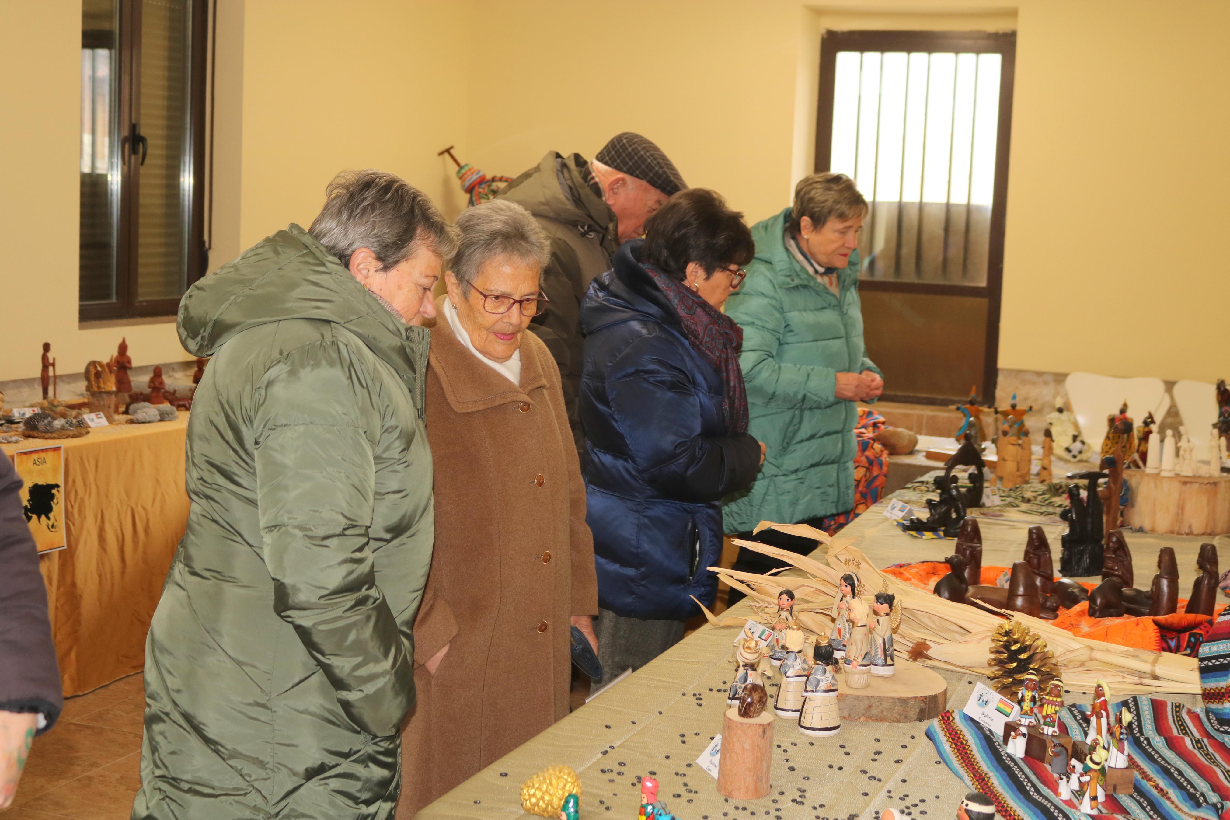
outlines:
[{"label": "man in checked flat cap and dark olive hooded jacket", "polygon": [[560,365],[578,454],[584,451],[577,416],[584,347],[581,299],[593,278],[610,269],[620,243],[641,236],[649,214],[686,187],[662,149],[640,134],[624,132],[593,161],[579,154],[547,151],[538,166],[499,194],[529,210],[551,237],[551,261],[542,269],[542,293],[550,301],[530,329]]}]

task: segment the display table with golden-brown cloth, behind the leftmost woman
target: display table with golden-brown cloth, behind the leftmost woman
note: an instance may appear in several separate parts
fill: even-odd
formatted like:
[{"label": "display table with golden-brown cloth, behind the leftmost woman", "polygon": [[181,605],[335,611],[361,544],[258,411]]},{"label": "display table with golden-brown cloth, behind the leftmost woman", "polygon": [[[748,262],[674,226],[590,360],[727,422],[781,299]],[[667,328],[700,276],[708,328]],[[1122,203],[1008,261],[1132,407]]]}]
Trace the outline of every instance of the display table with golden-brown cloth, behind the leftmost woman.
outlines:
[{"label": "display table with golden-brown cloth, behind the leftmost woman", "polygon": [[117,424],[64,445],[68,548],[39,558],[64,695],[80,695],[145,666],[145,633],[188,520],[184,438],[173,422]]}]

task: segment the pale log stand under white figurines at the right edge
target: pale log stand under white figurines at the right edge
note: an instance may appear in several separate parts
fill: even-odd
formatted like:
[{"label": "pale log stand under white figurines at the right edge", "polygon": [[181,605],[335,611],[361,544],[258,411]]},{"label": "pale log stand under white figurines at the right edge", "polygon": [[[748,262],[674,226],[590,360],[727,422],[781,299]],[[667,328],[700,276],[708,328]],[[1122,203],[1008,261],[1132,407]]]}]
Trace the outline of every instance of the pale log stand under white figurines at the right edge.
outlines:
[{"label": "pale log stand under white figurines at the right edge", "polygon": [[1125,470],[1124,522],[1165,535],[1230,532],[1230,475],[1162,476]]}]

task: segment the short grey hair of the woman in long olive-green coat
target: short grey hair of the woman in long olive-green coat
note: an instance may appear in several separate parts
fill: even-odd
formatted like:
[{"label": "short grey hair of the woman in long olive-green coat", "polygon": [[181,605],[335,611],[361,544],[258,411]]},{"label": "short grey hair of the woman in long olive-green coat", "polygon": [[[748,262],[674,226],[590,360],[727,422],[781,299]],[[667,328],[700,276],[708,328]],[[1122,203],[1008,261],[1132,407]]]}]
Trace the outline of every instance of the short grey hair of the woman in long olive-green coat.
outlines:
[{"label": "short grey hair of the woman in long olive-green coat", "polygon": [[325,207],[308,229],[343,267],[369,248],[387,270],[427,247],[442,258],[456,252],[456,229],[418,188],[384,171],[342,171],[325,188]]}]

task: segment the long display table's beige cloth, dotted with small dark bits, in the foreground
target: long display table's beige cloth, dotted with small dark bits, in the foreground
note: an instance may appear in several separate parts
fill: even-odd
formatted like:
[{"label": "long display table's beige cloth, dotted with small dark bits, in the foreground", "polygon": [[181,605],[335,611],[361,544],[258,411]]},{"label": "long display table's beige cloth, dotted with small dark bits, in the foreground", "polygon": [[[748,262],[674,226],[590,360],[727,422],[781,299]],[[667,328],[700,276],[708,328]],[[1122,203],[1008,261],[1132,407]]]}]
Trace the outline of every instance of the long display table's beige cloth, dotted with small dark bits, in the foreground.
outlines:
[{"label": "long display table's beige cloth, dotted with small dark bits, in the foreground", "polygon": [[[924,541],[905,535],[883,516],[886,507],[887,500],[881,502],[841,532],[845,537],[859,537],[855,546],[877,566],[937,559],[952,551],[951,541]],[[1031,521],[1015,518],[983,521],[984,563],[1011,566],[1011,561],[1021,559]],[[1058,562],[1060,527],[1048,525],[1047,530]],[[1155,570],[1146,556],[1150,552],[1156,556],[1159,540],[1165,546],[1182,547],[1180,568],[1189,589],[1199,538],[1129,537],[1137,575],[1146,583],[1151,578]],[[1219,545],[1226,542],[1225,536],[1218,540]],[[823,561],[823,547],[815,557]],[[1225,597],[1220,596],[1219,602],[1225,602]],[[744,601],[722,617],[749,612]],[[948,820],[956,815],[957,804],[968,789],[941,763],[926,739],[929,723],[846,720],[836,735],[808,738],[798,733],[793,722],[779,719],[770,795],[759,800],[726,800],[718,795],[716,779],[700,768],[696,759],[721,731],[726,691],[734,671],[736,634],[733,628],[700,628],[428,805],[418,816],[426,820],[529,818],[520,809],[519,788],[531,775],[556,763],[572,766],[581,776],[582,816],[587,818],[635,818],[640,804],[636,778],[649,773],[661,783],[658,797],[683,820],[875,819],[889,806],[908,809],[918,820]],[[962,708],[974,684],[985,682],[984,677],[937,671],[948,682],[948,708]],[[776,693],[776,682],[775,676],[770,681],[770,698]],[[1085,702],[1079,695],[1069,697],[1070,703]],[[1199,704],[1198,696],[1166,697]]]}]

